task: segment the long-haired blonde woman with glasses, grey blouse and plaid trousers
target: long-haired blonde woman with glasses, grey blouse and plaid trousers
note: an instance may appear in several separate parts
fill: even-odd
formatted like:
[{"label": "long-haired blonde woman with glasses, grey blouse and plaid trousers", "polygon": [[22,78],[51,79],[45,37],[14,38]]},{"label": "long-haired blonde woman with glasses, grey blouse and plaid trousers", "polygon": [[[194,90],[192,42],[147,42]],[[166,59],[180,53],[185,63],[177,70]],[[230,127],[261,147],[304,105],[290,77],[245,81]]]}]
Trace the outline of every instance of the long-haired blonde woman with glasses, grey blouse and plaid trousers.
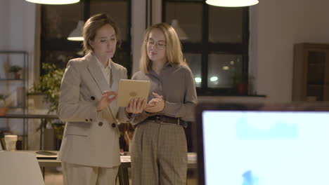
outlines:
[{"label": "long-haired blonde woman with glasses, grey blouse and plaid trousers", "polygon": [[129,104],[136,125],[131,146],[134,185],[186,184],[187,145],[183,127],[193,121],[197,95],[181,43],[167,23],[150,27],[144,37],[140,68],[133,79],[151,82],[148,103]]}]

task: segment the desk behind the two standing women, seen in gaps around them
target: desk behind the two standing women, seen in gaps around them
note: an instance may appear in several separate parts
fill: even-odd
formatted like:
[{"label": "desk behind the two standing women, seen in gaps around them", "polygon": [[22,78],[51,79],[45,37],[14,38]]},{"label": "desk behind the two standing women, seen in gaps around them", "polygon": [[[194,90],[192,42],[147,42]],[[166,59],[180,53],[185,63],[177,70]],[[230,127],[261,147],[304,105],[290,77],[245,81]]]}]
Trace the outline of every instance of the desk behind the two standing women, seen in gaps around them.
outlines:
[{"label": "desk behind the two standing women, seen in gaps around them", "polygon": [[[57,160],[57,154],[54,156],[45,156],[37,154],[37,151],[21,151],[31,153],[37,157],[40,167],[58,167],[61,165],[60,160]],[[51,151],[58,153],[58,151]],[[188,168],[197,168],[196,153],[188,153]],[[129,185],[128,167],[130,167],[130,156],[120,156],[121,165],[119,167],[118,179],[120,185]]]}]

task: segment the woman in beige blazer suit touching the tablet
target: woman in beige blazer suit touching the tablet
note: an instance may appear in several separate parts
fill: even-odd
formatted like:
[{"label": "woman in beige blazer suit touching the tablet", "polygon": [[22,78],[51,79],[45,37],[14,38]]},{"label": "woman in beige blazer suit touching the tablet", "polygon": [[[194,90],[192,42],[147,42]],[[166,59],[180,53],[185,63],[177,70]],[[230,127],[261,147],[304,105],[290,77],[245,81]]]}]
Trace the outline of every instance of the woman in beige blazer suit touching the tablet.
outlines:
[{"label": "woman in beige blazer suit touching the tablet", "polygon": [[115,184],[120,165],[116,119],[127,121],[115,93],[127,69],[111,60],[118,34],[107,15],[92,16],[83,29],[86,55],[67,63],[58,105],[58,117],[66,122],[58,153],[66,185]]}]

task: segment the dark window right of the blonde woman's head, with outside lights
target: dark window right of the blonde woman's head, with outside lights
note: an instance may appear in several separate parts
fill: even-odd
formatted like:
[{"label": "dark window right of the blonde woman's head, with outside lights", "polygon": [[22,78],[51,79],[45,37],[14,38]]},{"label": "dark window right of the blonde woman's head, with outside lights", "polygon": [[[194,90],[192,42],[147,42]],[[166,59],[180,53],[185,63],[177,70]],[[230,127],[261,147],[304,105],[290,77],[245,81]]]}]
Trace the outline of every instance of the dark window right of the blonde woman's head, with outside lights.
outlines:
[{"label": "dark window right of the blonde woman's head, with outside lights", "polygon": [[163,21],[178,20],[188,36],[181,43],[198,95],[235,95],[236,76],[248,71],[248,8],[203,0],[164,0],[162,8]]}]

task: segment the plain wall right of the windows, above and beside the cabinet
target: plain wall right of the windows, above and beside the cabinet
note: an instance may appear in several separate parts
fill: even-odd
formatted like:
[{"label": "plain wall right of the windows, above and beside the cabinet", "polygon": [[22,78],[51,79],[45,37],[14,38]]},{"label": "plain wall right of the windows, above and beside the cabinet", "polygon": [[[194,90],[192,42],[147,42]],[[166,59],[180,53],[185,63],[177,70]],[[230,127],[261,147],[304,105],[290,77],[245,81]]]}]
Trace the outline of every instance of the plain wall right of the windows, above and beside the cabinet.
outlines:
[{"label": "plain wall right of the windows, above and beside the cabinet", "polygon": [[328,7],[328,0],[262,0],[250,8],[250,67],[258,94],[291,101],[293,45],[329,43]]}]

